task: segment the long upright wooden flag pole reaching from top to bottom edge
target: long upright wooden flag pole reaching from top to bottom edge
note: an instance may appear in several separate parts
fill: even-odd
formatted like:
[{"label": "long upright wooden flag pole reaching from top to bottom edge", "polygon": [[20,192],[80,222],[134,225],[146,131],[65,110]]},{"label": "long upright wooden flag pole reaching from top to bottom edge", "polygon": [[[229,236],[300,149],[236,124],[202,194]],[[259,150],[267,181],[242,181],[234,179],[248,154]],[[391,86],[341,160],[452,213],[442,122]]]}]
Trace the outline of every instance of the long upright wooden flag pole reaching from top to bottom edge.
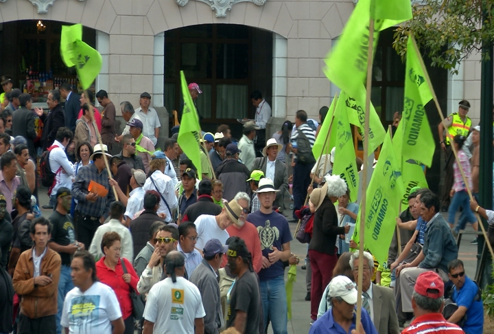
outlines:
[{"label": "long upright wooden flag pole reaching from top to bottom edge", "polygon": [[364,272],[364,235],[366,219],[366,190],[367,190],[367,168],[368,168],[368,138],[369,138],[369,115],[371,111],[371,90],[372,90],[372,67],[373,67],[373,45],[374,45],[374,13],[373,1],[371,1],[371,19],[369,20],[369,39],[367,49],[367,82],[366,82],[366,104],[365,104],[365,122],[364,134],[362,136],[364,144],[364,170],[362,170],[362,199],[360,201],[360,241],[359,241],[359,261],[358,261],[358,298],[357,298],[357,321],[355,329],[360,328],[360,319],[362,317],[362,273]]}]

